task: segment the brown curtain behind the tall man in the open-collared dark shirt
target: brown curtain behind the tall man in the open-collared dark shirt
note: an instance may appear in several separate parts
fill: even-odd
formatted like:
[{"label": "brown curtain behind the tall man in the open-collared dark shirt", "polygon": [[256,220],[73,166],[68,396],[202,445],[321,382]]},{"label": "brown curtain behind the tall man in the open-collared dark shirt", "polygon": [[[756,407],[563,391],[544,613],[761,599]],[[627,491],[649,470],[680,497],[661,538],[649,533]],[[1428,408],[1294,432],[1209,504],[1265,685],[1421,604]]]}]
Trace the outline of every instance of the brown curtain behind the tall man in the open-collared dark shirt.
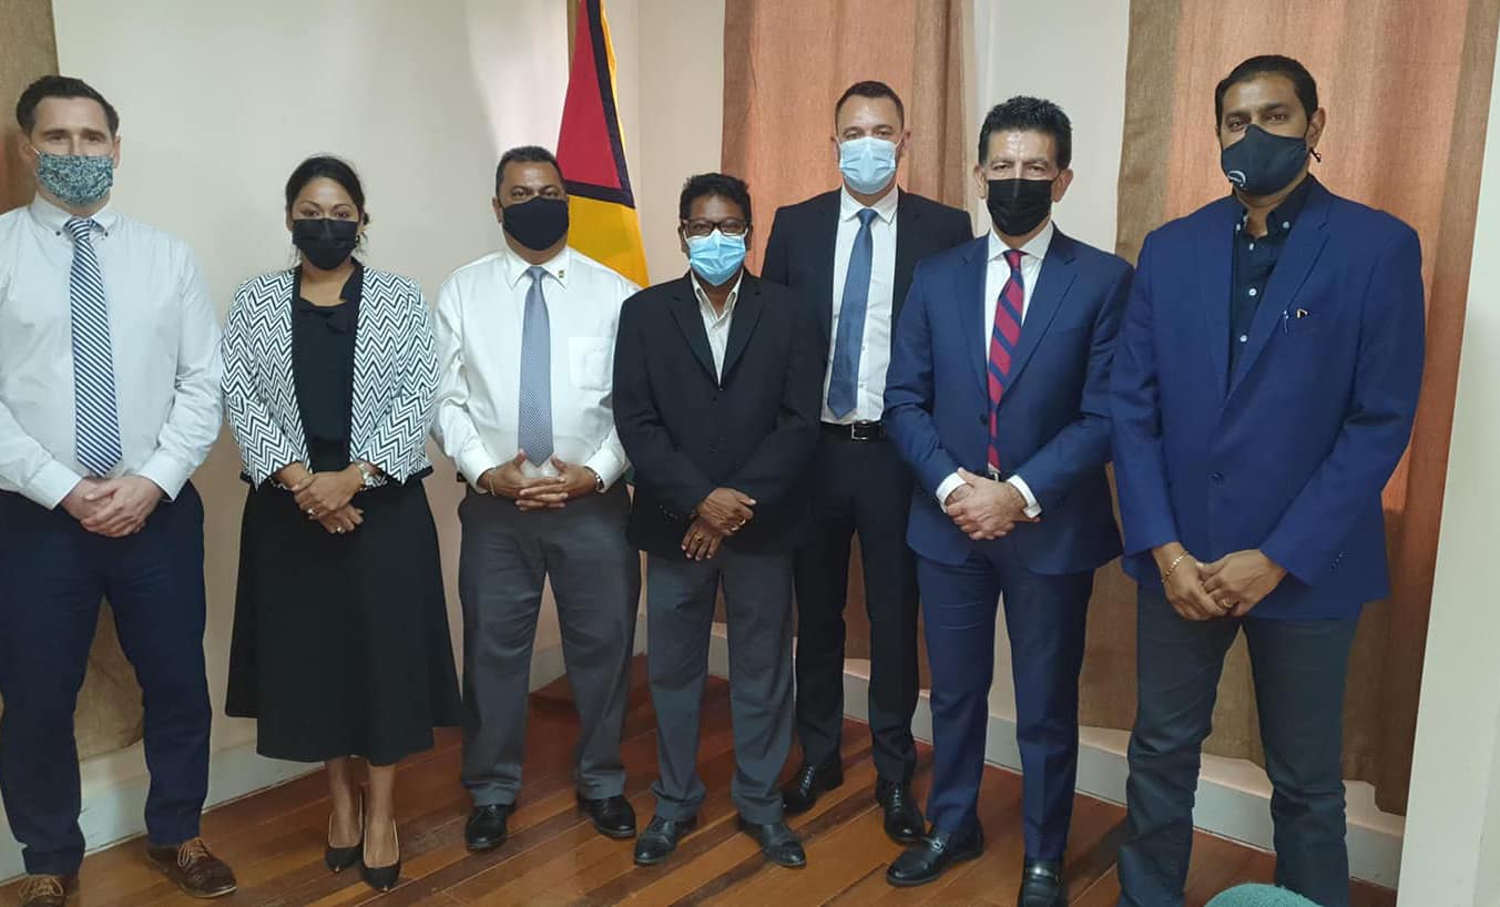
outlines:
[{"label": "brown curtain behind the tall man in the open-collared dark shirt", "polygon": [[[1426,373],[1412,448],[1386,487],[1392,595],[1366,609],[1350,669],[1344,769],[1406,811],[1422,652],[1448,469],[1454,388],[1484,159],[1500,0],[1132,0],[1120,157],[1120,255],[1226,192],[1214,85],[1254,54],[1296,57],[1318,79],[1328,130],[1314,172],[1422,237]],[[1130,727],[1134,589],[1101,571],[1083,720]],[[1220,685],[1208,751],[1263,762],[1240,642]]]}]

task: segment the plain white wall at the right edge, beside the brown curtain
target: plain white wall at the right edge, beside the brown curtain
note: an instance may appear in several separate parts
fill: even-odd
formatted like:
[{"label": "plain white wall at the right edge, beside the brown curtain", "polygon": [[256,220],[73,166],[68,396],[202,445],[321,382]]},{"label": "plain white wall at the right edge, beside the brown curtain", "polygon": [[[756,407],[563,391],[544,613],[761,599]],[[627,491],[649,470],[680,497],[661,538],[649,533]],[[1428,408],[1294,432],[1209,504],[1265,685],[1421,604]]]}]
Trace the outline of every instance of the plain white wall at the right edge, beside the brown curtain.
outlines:
[{"label": "plain white wall at the right edge, beside the brown curtain", "polygon": [[1500,600],[1494,586],[1500,510],[1500,91],[1468,277],[1443,528],[1432,583],[1426,670],[1418,711],[1412,808],[1401,862],[1402,907],[1500,906]]}]

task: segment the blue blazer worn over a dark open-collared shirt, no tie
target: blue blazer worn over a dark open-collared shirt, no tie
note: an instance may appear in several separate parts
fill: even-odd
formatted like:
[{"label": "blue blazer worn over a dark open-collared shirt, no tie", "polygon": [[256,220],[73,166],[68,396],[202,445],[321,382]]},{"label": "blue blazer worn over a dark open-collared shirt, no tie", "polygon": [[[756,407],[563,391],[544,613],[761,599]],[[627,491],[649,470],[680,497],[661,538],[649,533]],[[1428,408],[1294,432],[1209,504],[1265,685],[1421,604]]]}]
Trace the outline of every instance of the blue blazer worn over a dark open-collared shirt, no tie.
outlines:
[{"label": "blue blazer worn over a dark open-collared shirt, no tie", "polygon": [[1126,571],[1150,550],[1260,549],[1290,573],[1252,618],[1330,619],[1389,594],[1380,492],[1422,382],[1422,252],[1390,214],[1312,183],[1228,370],[1232,241],[1215,201],[1149,237],[1112,387]]}]

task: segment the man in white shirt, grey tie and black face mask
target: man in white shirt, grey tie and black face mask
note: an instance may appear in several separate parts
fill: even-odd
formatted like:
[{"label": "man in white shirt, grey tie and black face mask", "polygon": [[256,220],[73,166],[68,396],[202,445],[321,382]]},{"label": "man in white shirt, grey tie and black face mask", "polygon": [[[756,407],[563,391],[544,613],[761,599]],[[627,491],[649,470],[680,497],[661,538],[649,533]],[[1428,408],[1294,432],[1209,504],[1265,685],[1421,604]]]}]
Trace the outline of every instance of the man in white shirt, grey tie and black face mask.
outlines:
[{"label": "man in white shirt, grey tie and black face mask", "polygon": [[506,246],[448,277],[436,325],[436,435],[472,486],[459,505],[465,841],[506,841],[548,580],[582,721],[579,805],[600,834],[630,838],[620,741],[640,561],[610,384],[620,307],[638,288],[568,247],[567,186],[548,150],[506,151],[495,181]]}]

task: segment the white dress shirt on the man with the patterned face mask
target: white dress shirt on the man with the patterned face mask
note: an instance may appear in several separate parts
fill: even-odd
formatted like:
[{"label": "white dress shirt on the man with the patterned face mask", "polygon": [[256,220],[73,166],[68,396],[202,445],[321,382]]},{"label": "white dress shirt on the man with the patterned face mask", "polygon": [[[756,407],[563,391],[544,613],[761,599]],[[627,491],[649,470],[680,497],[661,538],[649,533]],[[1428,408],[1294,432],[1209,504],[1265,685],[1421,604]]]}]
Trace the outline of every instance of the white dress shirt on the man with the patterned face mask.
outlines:
[{"label": "white dress shirt on the man with the patterned face mask", "polygon": [[[72,217],[42,198],[0,216],[0,490],[57,507],[78,463]],[[110,306],[120,463],[168,498],[219,436],[219,321],[192,250],[105,205],[94,256]]]}]

